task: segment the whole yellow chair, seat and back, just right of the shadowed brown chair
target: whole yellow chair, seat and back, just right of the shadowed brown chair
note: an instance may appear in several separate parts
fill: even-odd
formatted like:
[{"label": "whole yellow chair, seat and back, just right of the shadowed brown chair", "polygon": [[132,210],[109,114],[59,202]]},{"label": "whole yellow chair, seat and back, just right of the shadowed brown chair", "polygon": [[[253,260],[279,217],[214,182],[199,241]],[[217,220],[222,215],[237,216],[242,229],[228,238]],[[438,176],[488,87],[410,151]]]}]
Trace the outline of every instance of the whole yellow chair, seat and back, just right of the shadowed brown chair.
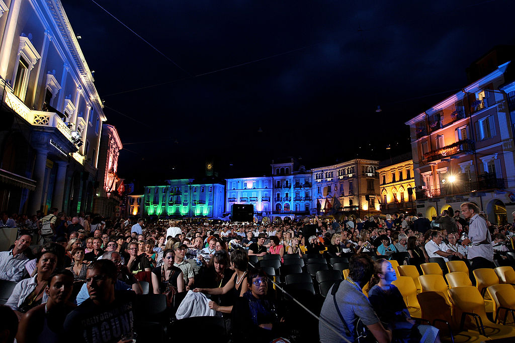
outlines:
[{"label": "whole yellow chair, seat and back, just right of the shadowed brown chair", "polygon": [[[454,305],[454,316],[460,322],[460,329],[477,328],[479,334],[488,338],[508,338],[515,336],[515,328],[495,324],[488,319],[483,296],[474,286],[458,286],[449,290],[449,297]],[[467,323],[467,320],[469,322]],[[470,326],[475,323],[475,326]]]}]

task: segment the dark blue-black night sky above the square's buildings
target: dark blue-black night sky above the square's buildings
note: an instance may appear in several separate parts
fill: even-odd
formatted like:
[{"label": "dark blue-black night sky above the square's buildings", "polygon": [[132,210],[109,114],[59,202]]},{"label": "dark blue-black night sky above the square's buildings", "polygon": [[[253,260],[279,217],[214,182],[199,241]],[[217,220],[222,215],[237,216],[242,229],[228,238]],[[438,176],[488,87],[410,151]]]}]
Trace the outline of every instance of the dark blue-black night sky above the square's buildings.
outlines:
[{"label": "dark blue-black night sky above the square's buildings", "polygon": [[404,122],[515,43],[509,0],[95,0],[163,56],[92,0],[61,1],[124,143],[118,175],[144,185],[211,158],[238,177],[407,152]]}]

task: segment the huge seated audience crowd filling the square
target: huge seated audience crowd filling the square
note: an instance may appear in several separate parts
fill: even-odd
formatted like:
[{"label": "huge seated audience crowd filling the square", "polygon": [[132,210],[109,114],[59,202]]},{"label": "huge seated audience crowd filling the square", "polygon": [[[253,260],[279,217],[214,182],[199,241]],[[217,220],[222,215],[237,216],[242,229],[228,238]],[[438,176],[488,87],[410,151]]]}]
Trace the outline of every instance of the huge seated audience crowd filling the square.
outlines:
[{"label": "huge seated audience crowd filling the square", "polygon": [[[2,226],[19,227],[11,248],[0,252],[0,280],[15,283],[0,306],[6,318],[0,331],[9,332],[4,341],[18,342],[73,337],[128,343],[145,317],[135,313],[135,297],[164,294],[171,309],[175,297],[188,291],[209,298],[208,310],[224,318],[233,341],[295,340],[291,332],[299,323],[288,322],[283,298],[259,262],[249,263],[249,257],[260,261],[267,254],[281,262],[289,254],[350,258],[349,277],[321,300],[322,343],[344,341],[342,336],[354,341],[356,319],[379,342],[434,342],[438,330],[415,324],[391,284],[395,273],[388,259],[404,253],[414,264],[442,257],[464,260],[471,270],[493,267],[494,255],[503,258],[515,234],[510,224],[492,225],[472,203],[432,220],[394,213],[275,223],[111,220],[52,208],[31,218],[2,213]],[[374,255],[380,255],[375,262]],[[139,333],[138,341],[144,337]]]}]

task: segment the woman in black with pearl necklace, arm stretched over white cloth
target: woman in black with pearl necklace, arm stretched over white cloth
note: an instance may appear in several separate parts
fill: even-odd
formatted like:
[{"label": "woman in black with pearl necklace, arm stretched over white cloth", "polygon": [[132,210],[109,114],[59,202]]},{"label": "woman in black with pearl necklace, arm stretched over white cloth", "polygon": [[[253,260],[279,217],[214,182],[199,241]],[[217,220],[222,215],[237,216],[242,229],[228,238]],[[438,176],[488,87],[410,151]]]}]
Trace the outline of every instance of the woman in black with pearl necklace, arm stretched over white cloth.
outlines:
[{"label": "woman in black with pearl necklace, arm stretched over white cloth", "polygon": [[[231,266],[234,268],[234,274],[225,286],[217,288],[195,288],[193,292],[203,292],[211,295],[223,295],[231,292],[234,298],[242,296],[248,289],[247,279],[245,278],[248,265],[249,257],[247,252],[236,249],[231,254]],[[233,302],[226,306],[219,306],[216,302],[210,301],[209,308],[222,313],[231,313],[232,303]]]}]

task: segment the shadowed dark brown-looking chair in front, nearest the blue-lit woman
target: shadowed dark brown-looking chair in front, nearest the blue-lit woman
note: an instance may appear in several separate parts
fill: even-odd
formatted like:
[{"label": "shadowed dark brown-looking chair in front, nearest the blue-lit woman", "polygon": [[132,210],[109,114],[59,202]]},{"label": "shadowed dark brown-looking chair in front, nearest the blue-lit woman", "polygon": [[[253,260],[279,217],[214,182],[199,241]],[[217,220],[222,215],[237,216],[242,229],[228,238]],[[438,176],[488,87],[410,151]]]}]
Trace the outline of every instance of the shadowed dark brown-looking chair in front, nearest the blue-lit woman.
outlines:
[{"label": "shadowed dark brown-looking chair in front, nearest the blue-lit woman", "polygon": [[442,342],[484,342],[488,337],[479,335],[472,330],[460,331],[451,316],[451,305],[438,292],[423,292],[417,294],[417,300],[422,310],[422,318],[429,321],[440,330]]}]

